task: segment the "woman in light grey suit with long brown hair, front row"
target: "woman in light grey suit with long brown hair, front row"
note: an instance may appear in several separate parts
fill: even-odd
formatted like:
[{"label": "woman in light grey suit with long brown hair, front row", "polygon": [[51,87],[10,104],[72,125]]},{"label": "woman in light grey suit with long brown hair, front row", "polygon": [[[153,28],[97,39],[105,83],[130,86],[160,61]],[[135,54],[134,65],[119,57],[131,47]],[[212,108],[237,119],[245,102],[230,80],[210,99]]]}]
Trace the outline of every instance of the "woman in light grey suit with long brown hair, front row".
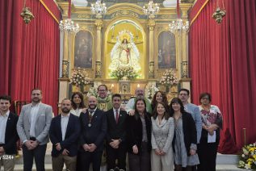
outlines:
[{"label": "woman in light grey suit with long brown hair, front row", "polygon": [[174,152],[172,141],[174,138],[174,119],[167,112],[163,102],[158,102],[153,111],[152,120],[152,171],[173,171]]}]

